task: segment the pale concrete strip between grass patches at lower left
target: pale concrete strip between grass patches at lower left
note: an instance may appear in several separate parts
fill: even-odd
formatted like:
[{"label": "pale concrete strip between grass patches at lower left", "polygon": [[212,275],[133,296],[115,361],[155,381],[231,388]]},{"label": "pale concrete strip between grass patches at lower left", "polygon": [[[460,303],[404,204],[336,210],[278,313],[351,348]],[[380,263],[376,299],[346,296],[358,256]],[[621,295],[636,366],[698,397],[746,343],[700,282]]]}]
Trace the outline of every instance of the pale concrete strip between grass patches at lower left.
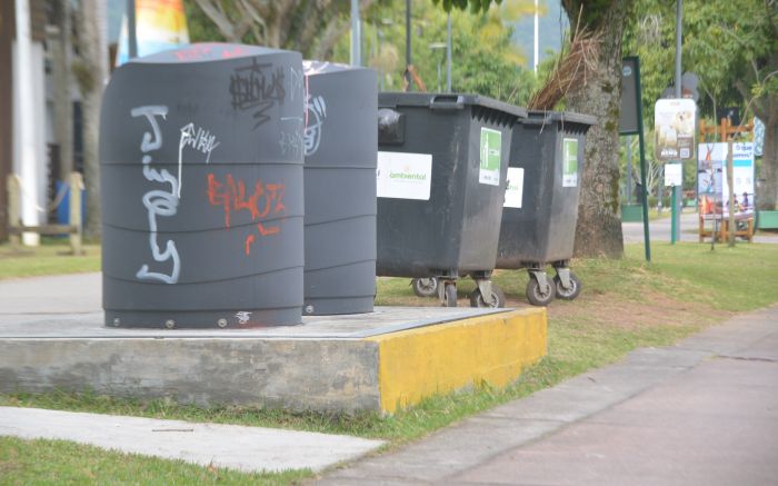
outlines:
[{"label": "pale concrete strip between grass patches at lower left", "polygon": [[0,436],[4,435],[73,440],[243,472],[320,470],[383,444],[308,432],[0,407]]}]

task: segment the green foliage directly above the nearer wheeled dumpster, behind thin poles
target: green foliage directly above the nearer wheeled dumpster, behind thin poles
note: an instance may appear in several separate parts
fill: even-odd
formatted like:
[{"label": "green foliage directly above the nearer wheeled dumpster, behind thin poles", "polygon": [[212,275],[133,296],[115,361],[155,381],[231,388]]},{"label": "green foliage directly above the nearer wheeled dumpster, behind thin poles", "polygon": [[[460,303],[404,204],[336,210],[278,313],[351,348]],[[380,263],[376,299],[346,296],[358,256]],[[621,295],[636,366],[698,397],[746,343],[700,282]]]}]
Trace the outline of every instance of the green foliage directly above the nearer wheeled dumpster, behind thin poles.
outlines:
[{"label": "green foliage directly above the nearer wheeled dumpster, behind thin poles", "polygon": [[[362,29],[365,62],[379,71],[381,87],[387,91],[398,91],[403,86],[405,9],[397,8],[396,3],[379,3]],[[475,92],[523,105],[535,88],[535,77],[521,66],[526,58],[511,43],[512,30],[501,21],[500,14],[501,11],[451,12],[451,88],[455,92]],[[442,46],[447,38],[447,14],[427,1],[416,1],[412,16],[413,67],[428,91],[442,91],[446,89],[446,49]],[[333,57],[336,61],[348,61],[348,38],[341,39]]]}]

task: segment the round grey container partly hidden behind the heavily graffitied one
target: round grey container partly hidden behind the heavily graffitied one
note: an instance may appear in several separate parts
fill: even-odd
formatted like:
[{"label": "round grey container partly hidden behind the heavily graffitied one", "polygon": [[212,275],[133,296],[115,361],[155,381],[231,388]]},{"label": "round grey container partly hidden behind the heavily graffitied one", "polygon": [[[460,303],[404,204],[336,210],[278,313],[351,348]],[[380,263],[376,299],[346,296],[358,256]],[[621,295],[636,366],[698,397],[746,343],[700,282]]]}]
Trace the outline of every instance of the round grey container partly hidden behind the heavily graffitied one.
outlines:
[{"label": "round grey container partly hidden behind the heavily graffitied one", "polygon": [[376,296],[376,71],[303,65],[303,314],[370,313]]}]

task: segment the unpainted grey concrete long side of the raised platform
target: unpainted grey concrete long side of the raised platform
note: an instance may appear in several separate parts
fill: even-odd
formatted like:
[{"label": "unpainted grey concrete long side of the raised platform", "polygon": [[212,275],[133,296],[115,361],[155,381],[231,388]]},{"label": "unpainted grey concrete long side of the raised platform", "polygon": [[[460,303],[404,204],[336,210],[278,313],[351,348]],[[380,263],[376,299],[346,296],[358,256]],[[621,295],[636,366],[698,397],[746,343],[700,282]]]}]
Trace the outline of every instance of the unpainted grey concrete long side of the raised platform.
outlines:
[{"label": "unpainted grey concrete long side of the raised platform", "polygon": [[338,339],[0,340],[0,391],[52,389],[201,406],[377,410],[378,346]]}]

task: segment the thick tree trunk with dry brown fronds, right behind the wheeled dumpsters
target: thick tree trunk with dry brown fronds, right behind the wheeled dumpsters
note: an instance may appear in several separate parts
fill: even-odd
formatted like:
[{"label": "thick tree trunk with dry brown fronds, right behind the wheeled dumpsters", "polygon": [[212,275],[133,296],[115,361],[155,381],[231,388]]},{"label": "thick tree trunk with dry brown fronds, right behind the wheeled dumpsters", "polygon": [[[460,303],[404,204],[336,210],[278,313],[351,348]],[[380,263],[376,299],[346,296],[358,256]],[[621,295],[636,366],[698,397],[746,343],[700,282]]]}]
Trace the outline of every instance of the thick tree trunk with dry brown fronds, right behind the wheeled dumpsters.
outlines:
[{"label": "thick tree trunk with dry brown fronds, right behind the wheeled dumpsters", "polygon": [[[606,9],[605,7],[600,7]],[[597,117],[587,135],[575,254],[621,258],[624,237],[619,215],[619,111],[621,98],[621,34],[628,7],[615,0],[602,11],[597,69],[575,86],[566,100],[570,110]],[[571,19],[578,12],[568,11]],[[586,13],[585,13],[586,16]]]}]

